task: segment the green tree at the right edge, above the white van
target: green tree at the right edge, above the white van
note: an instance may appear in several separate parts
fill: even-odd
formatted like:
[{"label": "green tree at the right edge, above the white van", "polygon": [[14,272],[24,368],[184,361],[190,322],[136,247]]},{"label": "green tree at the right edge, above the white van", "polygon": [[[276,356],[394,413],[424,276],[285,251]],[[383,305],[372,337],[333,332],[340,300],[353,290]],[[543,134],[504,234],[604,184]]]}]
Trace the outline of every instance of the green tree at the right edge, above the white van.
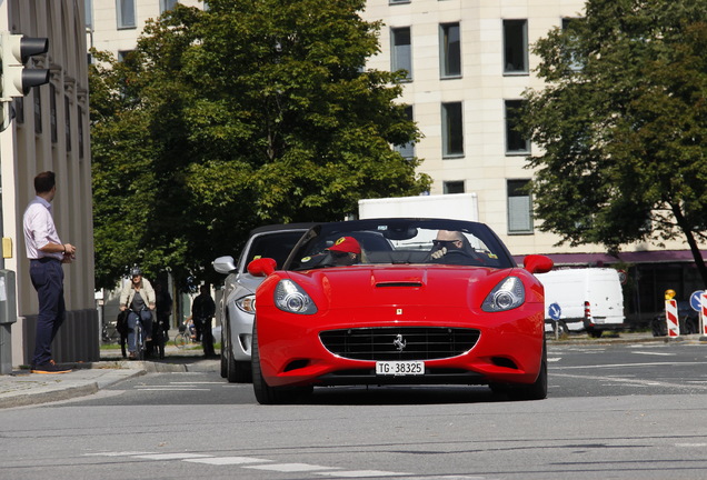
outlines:
[{"label": "green tree at the right edge, above the white van", "polygon": [[693,0],[589,0],[534,46],[546,87],[521,123],[541,230],[614,253],[684,237],[707,286],[706,48]]}]

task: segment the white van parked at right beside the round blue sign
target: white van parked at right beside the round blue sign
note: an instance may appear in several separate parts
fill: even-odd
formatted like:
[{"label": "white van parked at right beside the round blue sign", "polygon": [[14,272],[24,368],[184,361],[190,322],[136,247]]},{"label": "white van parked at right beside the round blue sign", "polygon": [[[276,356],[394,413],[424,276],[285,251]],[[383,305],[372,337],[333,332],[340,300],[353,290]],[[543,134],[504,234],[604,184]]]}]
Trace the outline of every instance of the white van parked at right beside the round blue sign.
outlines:
[{"label": "white van parked at right beside the round blue sign", "polygon": [[586,329],[599,338],[624,329],[624,292],[618,271],[610,268],[552,270],[536,276],[545,287],[546,331]]}]

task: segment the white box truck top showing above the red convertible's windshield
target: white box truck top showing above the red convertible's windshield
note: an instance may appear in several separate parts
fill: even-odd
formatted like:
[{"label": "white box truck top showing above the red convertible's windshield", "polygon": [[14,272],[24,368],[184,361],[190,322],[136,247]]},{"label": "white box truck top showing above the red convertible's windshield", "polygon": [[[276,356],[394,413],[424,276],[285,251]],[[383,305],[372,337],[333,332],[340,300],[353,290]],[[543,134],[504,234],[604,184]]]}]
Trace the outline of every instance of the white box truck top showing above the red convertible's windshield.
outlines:
[{"label": "white box truck top showing above the red convertible's windshield", "polygon": [[391,197],[358,201],[358,218],[445,218],[479,221],[476,193]]}]

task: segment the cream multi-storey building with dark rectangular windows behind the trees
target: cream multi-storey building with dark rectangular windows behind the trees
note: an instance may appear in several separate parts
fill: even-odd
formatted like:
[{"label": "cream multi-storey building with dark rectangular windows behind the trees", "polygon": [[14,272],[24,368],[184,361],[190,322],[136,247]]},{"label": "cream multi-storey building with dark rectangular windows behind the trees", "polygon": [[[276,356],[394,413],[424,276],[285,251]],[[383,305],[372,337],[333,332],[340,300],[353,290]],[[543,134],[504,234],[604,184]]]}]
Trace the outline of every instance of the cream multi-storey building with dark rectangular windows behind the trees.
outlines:
[{"label": "cream multi-storey building with dark rectangular windows behind the trees", "polygon": [[[145,22],[177,0],[86,0],[89,46],[117,58],[135,48]],[[203,7],[198,0],[180,3]],[[545,253],[558,266],[614,266],[627,272],[629,318],[647,321],[663,309],[671,288],[687,299],[703,288],[683,242],[626,246],[619,258],[601,246],[557,246],[538,230],[532,178],[526,158],[534,146],[512,130],[527,88],[540,89],[530,46],[584,14],[584,0],[368,0],[361,17],[382,21],[381,51],[368,67],[408,71],[401,102],[424,138],[399,147],[424,159],[434,179],[430,194],[476,193],[480,221],[522,256]]]}]

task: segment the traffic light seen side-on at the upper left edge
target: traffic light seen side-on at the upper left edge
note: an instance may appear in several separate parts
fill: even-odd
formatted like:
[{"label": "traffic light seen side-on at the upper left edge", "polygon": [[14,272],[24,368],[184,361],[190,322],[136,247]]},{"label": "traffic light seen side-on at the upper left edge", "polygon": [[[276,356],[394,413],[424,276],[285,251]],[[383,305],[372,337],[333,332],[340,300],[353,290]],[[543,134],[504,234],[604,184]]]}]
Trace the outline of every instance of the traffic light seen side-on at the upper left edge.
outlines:
[{"label": "traffic light seen side-on at the upper left edge", "polygon": [[31,38],[3,32],[2,41],[2,94],[0,101],[11,101],[12,97],[24,97],[32,87],[49,81],[49,70],[28,69],[24,63],[30,57],[46,53],[49,39]]}]

